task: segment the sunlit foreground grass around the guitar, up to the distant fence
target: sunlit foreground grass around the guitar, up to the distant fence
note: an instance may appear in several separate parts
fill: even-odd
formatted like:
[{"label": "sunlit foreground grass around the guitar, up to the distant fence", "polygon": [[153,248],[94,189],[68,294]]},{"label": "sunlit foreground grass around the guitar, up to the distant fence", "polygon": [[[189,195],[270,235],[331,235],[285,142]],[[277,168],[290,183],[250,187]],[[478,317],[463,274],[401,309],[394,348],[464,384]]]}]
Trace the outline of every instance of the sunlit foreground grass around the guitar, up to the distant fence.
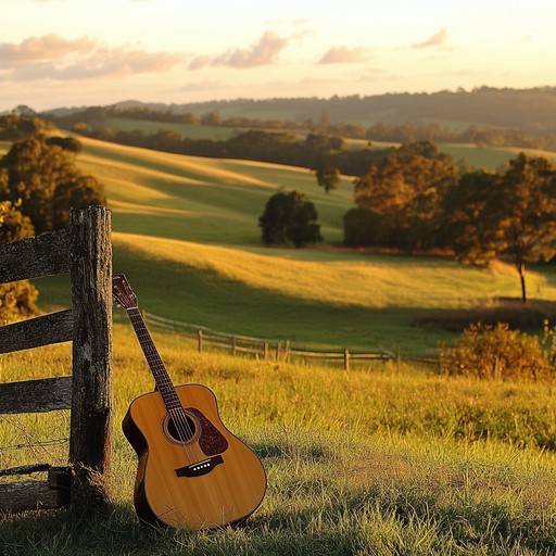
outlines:
[{"label": "sunlit foreground grass around the guitar, up to the distant fence", "polygon": [[[154,334],[176,383],[208,386],[224,422],[268,476],[247,525],[157,531],[131,508],[136,460],[118,422],[152,388],[129,326],[116,325],[111,505],[4,516],[3,556],[17,555],[460,555],[556,551],[553,382],[451,379],[432,369],[375,364],[343,372],[198,354]],[[3,356],[1,380],[64,374],[67,345]],[[67,433],[65,414],[22,416],[26,434]],[[25,442],[0,419],[0,446]],[[51,452],[53,452],[51,454]],[[0,452],[0,467],[48,453]]]}]

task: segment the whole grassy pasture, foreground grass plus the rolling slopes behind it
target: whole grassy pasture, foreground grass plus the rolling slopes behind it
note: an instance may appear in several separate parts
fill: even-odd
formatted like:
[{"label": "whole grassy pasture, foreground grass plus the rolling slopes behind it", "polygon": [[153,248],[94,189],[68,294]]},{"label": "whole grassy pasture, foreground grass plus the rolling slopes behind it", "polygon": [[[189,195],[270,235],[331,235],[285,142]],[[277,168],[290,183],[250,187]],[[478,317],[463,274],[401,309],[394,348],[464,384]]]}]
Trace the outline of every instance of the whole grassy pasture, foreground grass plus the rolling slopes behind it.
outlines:
[{"label": "whole grassy pasture, foreground grass plus the rolling slopes behind it", "polygon": [[[443,257],[342,249],[348,178],[327,195],[299,168],[88,139],[84,147],[79,164],[105,185],[113,211],[114,270],[151,313],[296,345],[422,353],[450,337],[413,327],[414,315],[519,294],[503,263],[479,270]],[[261,244],[258,215],[281,186],[314,201],[325,244]],[[528,280],[533,296],[554,298],[552,273],[538,269]],[[67,306],[66,281],[37,285],[45,308]],[[102,514],[2,516],[2,556],[556,552],[553,381],[448,378],[403,363],[343,372],[248,361],[199,354],[179,334],[156,330],[175,383],[215,392],[224,422],[261,457],[268,491],[241,527],[174,533],[140,526],[131,507],[136,457],[119,422],[152,379],[124,313],[114,316],[111,505]],[[3,355],[0,380],[65,375],[70,355],[67,344]],[[67,430],[65,413],[1,417],[0,468],[64,465]]]}]

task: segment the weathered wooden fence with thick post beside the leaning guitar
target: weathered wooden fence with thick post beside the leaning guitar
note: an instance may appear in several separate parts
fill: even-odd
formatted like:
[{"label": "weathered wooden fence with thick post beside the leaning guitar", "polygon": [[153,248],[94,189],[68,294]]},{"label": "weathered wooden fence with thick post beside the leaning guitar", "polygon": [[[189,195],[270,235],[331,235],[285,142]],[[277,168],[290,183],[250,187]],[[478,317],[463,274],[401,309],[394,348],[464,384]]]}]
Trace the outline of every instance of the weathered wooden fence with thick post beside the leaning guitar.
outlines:
[{"label": "weathered wooden fence with thick post beside the leaning guitar", "polygon": [[[70,466],[0,470],[1,476],[48,470],[47,481],[0,484],[0,509],[21,511],[68,503],[102,505],[111,460],[112,244],[103,206],[72,211],[71,226],[0,245],[0,283],[70,274],[72,306],[0,327],[0,353],[72,342],[72,375],[0,384],[0,414],[71,409]],[[0,446],[1,447],[1,446]]]}]

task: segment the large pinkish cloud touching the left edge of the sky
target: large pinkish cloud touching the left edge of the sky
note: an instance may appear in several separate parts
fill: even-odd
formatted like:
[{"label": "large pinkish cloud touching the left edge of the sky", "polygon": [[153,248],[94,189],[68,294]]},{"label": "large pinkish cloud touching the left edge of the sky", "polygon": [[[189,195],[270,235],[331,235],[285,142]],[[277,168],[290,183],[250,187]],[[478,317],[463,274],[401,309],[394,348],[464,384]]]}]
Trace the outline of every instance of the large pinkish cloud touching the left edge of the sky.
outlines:
[{"label": "large pinkish cloud touching the left edge of the sky", "polygon": [[29,37],[20,45],[0,43],[0,63],[59,60],[72,53],[90,52],[94,42],[84,37],[67,40],[58,35]]}]

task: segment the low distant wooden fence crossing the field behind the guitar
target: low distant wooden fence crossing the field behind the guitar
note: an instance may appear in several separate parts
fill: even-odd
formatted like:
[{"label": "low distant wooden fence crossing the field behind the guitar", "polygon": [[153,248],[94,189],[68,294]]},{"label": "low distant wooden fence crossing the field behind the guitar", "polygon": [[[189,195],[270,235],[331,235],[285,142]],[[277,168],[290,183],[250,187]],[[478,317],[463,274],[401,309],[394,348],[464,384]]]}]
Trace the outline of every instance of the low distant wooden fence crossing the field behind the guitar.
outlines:
[{"label": "low distant wooden fence crossing the field behind the guitar", "polygon": [[316,351],[306,349],[296,349],[292,346],[289,340],[270,340],[263,338],[253,338],[250,336],[230,334],[218,332],[211,328],[181,323],[169,318],[153,315],[146,311],[142,312],[146,323],[161,330],[179,332],[180,334],[197,341],[199,353],[205,349],[214,348],[225,350],[231,355],[249,354],[263,361],[276,361],[291,363],[294,359],[309,361],[331,361],[343,365],[344,370],[350,370],[352,362],[362,361],[395,361],[395,362],[415,362],[437,365],[438,357],[432,356],[403,356],[400,352],[393,353],[387,350],[379,352],[358,353],[352,352],[348,348],[342,350]]}]

